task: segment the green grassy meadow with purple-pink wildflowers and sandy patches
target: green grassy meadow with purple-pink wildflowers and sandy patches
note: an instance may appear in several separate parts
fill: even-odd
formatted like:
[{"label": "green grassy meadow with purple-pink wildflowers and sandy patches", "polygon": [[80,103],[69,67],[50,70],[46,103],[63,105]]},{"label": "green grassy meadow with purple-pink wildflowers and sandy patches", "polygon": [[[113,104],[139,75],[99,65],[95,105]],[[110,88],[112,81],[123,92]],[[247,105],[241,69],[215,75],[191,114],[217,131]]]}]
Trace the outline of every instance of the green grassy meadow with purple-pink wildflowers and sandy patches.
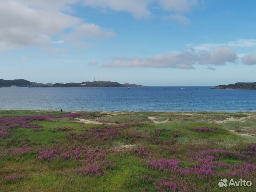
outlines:
[{"label": "green grassy meadow with purple-pink wildflowers and sandy patches", "polygon": [[255,135],[254,112],[0,110],[0,191],[254,192]]}]

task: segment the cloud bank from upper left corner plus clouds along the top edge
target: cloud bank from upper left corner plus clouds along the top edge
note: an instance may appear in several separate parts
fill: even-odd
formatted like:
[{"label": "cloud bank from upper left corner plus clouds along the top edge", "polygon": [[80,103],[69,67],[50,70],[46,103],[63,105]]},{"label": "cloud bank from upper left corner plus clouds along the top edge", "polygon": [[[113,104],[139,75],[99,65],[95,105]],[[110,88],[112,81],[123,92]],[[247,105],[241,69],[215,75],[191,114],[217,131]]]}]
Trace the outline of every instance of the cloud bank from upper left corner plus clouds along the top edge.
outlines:
[{"label": "cloud bank from upper left corner plus clouds along the top edge", "polygon": [[86,46],[79,41],[115,36],[113,30],[72,16],[75,5],[128,12],[134,18],[150,17],[150,6],[158,5],[166,18],[188,23],[184,14],[196,4],[197,0],[0,0],[0,50],[48,49],[63,43]]}]

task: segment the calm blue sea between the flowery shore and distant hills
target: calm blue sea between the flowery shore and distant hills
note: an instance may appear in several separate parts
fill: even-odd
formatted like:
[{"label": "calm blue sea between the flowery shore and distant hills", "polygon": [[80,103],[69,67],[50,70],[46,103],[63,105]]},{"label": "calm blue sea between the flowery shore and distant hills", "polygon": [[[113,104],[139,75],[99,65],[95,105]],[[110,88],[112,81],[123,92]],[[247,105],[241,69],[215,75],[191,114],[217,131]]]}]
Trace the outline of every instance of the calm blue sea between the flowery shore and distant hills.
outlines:
[{"label": "calm blue sea between the flowery shore and distant hills", "polygon": [[256,111],[256,90],[210,87],[0,88],[0,109]]}]

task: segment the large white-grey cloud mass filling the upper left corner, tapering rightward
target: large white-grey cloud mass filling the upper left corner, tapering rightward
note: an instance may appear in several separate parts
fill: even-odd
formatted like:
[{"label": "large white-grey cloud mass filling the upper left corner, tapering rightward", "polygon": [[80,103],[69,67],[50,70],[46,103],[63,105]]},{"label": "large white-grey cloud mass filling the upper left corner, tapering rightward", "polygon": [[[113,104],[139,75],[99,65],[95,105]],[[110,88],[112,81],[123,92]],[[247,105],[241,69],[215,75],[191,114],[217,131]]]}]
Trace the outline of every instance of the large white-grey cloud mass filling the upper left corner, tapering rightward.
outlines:
[{"label": "large white-grey cloud mass filling the upper left corner, tapering rightward", "polygon": [[76,42],[83,38],[101,39],[113,36],[113,32],[60,12],[68,9],[69,3],[75,2],[77,0],[0,0],[0,50],[30,46],[54,50],[52,44],[64,41],[52,42],[52,37],[63,36],[66,29],[71,31],[70,36]]}]

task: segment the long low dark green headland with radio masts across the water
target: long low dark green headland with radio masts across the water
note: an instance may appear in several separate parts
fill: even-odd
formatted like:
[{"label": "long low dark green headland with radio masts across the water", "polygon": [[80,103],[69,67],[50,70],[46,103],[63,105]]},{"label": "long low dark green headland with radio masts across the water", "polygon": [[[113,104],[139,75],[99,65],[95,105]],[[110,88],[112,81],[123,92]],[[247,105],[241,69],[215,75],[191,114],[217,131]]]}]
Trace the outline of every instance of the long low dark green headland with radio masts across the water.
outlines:
[{"label": "long low dark green headland with radio masts across the water", "polygon": [[118,83],[111,81],[85,81],[81,83],[36,83],[25,79],[4,80],[0,79],[0,87],[144,87],[130,83]]}]

